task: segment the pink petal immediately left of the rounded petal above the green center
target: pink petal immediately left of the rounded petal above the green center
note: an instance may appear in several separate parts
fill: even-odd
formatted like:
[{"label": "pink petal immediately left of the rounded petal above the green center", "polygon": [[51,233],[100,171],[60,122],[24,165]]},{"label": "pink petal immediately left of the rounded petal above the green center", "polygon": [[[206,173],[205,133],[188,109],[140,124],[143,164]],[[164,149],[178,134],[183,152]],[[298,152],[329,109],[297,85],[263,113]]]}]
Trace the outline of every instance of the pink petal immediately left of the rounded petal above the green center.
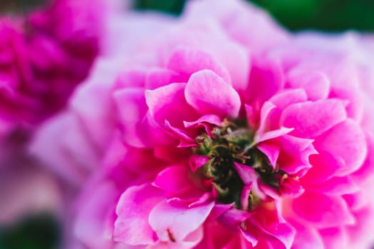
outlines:
[{"label": "pink petal immediately left of the rounded petal above the green center", "polygon": [[172,83],[155,90],[145,91],[150,114],[163,126],[165,120],[173,127],[182,128],[183,121],[197,119],[197,113],[185,100],[185,83]]}]

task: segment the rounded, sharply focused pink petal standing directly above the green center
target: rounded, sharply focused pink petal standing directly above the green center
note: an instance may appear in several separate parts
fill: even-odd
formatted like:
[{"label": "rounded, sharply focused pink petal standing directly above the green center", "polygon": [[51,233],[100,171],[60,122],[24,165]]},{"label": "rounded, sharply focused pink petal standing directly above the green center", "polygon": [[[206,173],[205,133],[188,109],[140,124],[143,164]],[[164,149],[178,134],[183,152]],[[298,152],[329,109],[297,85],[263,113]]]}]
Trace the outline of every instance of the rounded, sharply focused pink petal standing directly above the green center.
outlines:
[{"label": "rounded, sharply focused pink petal standing directly above the green center", "polygon": [[240,97],[237,91],[211,70],[191,75],[185,90],[186,100],[200,114],[237,117]]}]

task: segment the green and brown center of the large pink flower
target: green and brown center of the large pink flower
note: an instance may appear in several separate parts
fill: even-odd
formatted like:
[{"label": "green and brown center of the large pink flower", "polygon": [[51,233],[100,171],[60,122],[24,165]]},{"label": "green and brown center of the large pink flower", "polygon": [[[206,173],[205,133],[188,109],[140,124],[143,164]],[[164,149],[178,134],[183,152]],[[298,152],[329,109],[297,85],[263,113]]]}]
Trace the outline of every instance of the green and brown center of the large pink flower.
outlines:
[{"label": "green and brown center of the large pink flower", "polygon": [[[266,155],[255,146],[254,131],[244,120],[224,120],[220,127],[212,129],[211,134],[203,133],[195,141],[198,146],[194,153],[210,158],[199,169],[199,174],[212,180],[217,201],[221,203],[235,203],[237,208],[243,209],[241,191],[244,182],[235,169],[235,162],[253,168],[263,184],[276,190],[281,177],[286,174],[274,169]],[[259,203],[259,198],[253,190],[248,198],[250,211]]]}]

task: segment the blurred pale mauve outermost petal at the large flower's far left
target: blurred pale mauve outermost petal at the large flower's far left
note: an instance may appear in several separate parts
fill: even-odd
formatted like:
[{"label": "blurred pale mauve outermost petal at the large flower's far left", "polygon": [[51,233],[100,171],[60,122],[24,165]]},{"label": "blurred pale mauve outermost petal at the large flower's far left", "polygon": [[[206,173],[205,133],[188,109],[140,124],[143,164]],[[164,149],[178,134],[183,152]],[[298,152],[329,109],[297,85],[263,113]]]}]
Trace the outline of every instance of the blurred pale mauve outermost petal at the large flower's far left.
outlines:
[{"label": "blurred pale mauve outermost petal at the large flower's far left", "polygon": [[[70,184],[83,184],[88,172],[98,169],[95,143],[73,113],[56,115],[34,134],[30,151]],[[89,138],[88,138],[89,137]],[[56,141],[59,143],[56,144]],[[0,166],[1,168],[1,166]],[[11,167],[9,167],[11,169]]]}]

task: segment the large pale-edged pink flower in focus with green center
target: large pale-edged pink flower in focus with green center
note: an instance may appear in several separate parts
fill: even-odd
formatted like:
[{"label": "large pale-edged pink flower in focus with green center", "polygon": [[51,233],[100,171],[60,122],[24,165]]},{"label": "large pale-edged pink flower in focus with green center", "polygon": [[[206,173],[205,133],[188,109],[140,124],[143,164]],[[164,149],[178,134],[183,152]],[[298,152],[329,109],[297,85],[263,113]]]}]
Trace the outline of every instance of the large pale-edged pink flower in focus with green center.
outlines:
[{"label": "large pale-edged pink flower in focus with green center", "polygon": [[71,248],[370,248],[374,45],[244,1],[112,14],[30,146],[79,189]]}]

